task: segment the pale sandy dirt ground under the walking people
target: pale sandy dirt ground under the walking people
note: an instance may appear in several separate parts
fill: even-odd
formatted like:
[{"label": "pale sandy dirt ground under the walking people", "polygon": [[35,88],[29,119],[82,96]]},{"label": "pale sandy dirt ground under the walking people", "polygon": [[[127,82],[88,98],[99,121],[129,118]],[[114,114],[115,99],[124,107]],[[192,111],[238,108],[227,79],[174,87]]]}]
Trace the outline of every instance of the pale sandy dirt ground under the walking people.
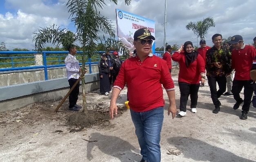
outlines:
[{"label": "pale sandy dirt ground under the walking people", "polygon": [[[172,71],[176,85],[176,107],[180,93],[178,69]],[[206,84],[207,85],[207,84]],[[89,113],[68,110],[68,101],[34,103],[0,113],[1,162],[139,162],[140,147],[130,112],[124,102],[127,89],[118,97],[118,116],[109,120],[110,97],[99,90],[87,93]],[[110,93],[111,94],[111,93]],[[256,108],[240,120],[241,107],[234,110],[233,97],[220,97],[222,106],[213,114],[209,86],[200,87],[197,113],[187,106],[186,117],[167,116],[161,132],[162,162],[255,162]],[[243,97],[243,93],[241,95]],[[82,105],[82,96],[78,98]],[[190,102],[188,102],[188,105]]]}]

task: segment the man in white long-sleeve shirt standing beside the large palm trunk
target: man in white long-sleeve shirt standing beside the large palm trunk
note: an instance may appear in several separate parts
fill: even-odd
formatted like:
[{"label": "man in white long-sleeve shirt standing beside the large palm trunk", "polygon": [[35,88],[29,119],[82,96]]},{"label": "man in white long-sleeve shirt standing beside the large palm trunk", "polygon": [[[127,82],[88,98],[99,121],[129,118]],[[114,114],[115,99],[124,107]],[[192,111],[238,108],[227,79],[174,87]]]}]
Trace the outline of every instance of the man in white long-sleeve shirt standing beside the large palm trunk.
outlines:
[{"label": "man in white long-sleeve shirt standing beside the large palm trunk", "polygon": [[[71,45],[69,48],[69,54],[65,58],[67,79],[69,81],[70,89],[75,84],[76,80],[78,80],[80,73],[82,72],[78,60],[76,60],[76,51],[76,45]],[[79,94],[79,86],[80,83],[76,85],[69,95],[69,110],[78,111],[80,108],[82,108],[76,104]]]}]

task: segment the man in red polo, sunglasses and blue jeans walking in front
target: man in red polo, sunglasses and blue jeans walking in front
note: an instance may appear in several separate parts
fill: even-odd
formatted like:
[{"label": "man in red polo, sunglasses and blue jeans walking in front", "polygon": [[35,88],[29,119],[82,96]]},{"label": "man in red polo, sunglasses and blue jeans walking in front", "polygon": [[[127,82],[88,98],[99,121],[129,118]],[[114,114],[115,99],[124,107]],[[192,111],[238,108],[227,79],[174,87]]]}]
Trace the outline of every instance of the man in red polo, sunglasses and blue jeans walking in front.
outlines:
[{"label": "man in red polo, sunglasses and blue jeans walking in front", "polygon": [[131,119],[141,148],[141,162],[160,162],[160,132],[163,124],[162,84],[169,97],[168,115],[176,115],[174,82],[166,61],[150,53],[155,38],[147,28],[134,32],[133,56],[122,63],[114,87],[109,107],[113,119],[117,114],[116,99],[127,84]]}]

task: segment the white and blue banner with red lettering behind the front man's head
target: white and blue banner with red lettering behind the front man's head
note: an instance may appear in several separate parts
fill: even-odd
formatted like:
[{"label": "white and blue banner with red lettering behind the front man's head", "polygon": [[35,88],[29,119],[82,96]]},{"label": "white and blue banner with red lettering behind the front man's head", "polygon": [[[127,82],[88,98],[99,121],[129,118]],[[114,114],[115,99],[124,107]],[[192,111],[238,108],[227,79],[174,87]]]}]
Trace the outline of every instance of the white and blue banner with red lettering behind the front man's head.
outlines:
[{"label": "white and blue banner with red lettering behind the front man's head", "polygon": [[[155,22],[151,19],[116,9],[116,24],[118,40],[122,41],[130,52],[134,48],[134,32],[140,28],[147,28],[155,37]],[[155,41],[152,44],[152,53],[155,53]]]}]

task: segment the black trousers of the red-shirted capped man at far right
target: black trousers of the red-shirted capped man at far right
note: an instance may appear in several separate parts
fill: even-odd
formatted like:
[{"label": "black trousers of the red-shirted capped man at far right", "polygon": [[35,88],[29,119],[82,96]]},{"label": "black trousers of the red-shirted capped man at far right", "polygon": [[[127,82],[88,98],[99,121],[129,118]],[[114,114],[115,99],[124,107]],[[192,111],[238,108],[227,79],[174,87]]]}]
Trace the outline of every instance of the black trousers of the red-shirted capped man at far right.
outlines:
[{"label": "black trousers of the red-shirted capped man at far right", "polygon": [[242,112],[247,113],[252,102],[252,95],[254,91],[254,85],[252,80],[233,80],[232,93],[236,102],[240,102],[240,92],[244,87],[244,104],[242,106]]}]

